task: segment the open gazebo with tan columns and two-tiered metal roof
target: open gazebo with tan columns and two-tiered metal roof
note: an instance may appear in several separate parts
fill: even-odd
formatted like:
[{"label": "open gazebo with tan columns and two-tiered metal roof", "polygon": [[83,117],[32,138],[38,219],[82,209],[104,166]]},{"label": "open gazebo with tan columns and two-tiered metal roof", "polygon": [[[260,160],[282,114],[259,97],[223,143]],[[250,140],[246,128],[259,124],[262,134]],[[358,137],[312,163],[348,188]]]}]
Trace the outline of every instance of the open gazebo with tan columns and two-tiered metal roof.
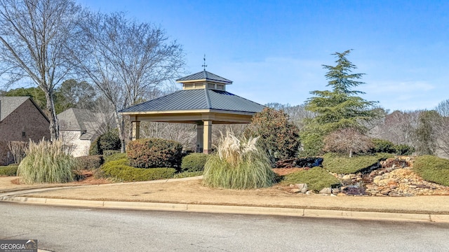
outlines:
[{"label": "open gazebo with tan columns and two-tiered metal roof", "polygon": [[129,116],[133,139],[140,137],[140,122],[196,124],[196,152],[212,150],[212,125],[250,123],[264,106],[226,91],[232,81],[206,70],[179,78],[182,90],[119,111]]}]

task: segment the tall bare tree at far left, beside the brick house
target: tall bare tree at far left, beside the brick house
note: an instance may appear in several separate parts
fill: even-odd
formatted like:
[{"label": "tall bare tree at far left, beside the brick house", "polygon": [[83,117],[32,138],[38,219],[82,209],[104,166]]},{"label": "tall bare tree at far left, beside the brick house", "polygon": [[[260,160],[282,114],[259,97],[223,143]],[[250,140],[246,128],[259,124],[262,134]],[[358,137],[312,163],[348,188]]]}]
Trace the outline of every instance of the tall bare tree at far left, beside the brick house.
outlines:
[{"label": "tall bare tree at far left, beside the brick house", "polygon": [[51,141],[59,134],[53,92],[71,68],[67,48],[79,11],[72,0],[0,0],[0,73],[8,84],[29,78],[43,90]]}]

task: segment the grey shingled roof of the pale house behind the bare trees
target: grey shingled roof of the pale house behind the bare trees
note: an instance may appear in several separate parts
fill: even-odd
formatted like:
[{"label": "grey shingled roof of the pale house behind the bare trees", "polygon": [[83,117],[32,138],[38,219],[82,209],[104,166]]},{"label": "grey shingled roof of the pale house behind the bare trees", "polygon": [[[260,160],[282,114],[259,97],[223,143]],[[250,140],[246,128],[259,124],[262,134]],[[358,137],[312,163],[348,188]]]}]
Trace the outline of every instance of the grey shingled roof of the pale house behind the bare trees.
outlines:
[{"label": "grey shingled roof of the pale house behind the bare trees", "polygon": [[98,115],[87,109],[67,109],[58,114],[60,130],[81,131],[81,140],[93,140],[98,136],[100,120]]}]

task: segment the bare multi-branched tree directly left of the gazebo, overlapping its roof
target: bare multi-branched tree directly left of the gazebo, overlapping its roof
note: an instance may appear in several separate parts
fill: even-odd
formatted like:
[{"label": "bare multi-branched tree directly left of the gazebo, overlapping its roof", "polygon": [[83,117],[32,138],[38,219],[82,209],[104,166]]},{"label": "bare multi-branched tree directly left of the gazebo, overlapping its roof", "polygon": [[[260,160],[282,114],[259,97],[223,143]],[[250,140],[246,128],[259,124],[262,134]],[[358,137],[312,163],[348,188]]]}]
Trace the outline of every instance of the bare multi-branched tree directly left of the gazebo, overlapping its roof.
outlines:
[{"label": "bare multi-branched tree directly left of the gazebo, overlapping its roof", "polygon": [[121,151],[125,151],[125,123],[118,111],[135,105],[154,87],[177,76],[184,65],[182,48],[165,32],[129,20],[123,13],[87,13],[80,45],[74,54],[81,73],[114,106]]}]

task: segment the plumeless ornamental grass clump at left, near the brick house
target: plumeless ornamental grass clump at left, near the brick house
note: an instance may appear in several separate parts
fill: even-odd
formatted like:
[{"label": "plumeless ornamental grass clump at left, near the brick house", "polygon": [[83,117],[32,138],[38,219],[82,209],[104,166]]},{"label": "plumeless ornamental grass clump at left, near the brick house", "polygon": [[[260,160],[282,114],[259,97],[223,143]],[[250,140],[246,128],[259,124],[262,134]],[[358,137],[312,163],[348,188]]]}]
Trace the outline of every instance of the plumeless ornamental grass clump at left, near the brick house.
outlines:
[{"label": "plumeless ornamental grass clump at left, near the brick house", "polygon": [[25,158],[20,162],[17,174],[21,183],[66,183],[74,181],[76,160],[69,154],[62,141],[29,141]]}]

